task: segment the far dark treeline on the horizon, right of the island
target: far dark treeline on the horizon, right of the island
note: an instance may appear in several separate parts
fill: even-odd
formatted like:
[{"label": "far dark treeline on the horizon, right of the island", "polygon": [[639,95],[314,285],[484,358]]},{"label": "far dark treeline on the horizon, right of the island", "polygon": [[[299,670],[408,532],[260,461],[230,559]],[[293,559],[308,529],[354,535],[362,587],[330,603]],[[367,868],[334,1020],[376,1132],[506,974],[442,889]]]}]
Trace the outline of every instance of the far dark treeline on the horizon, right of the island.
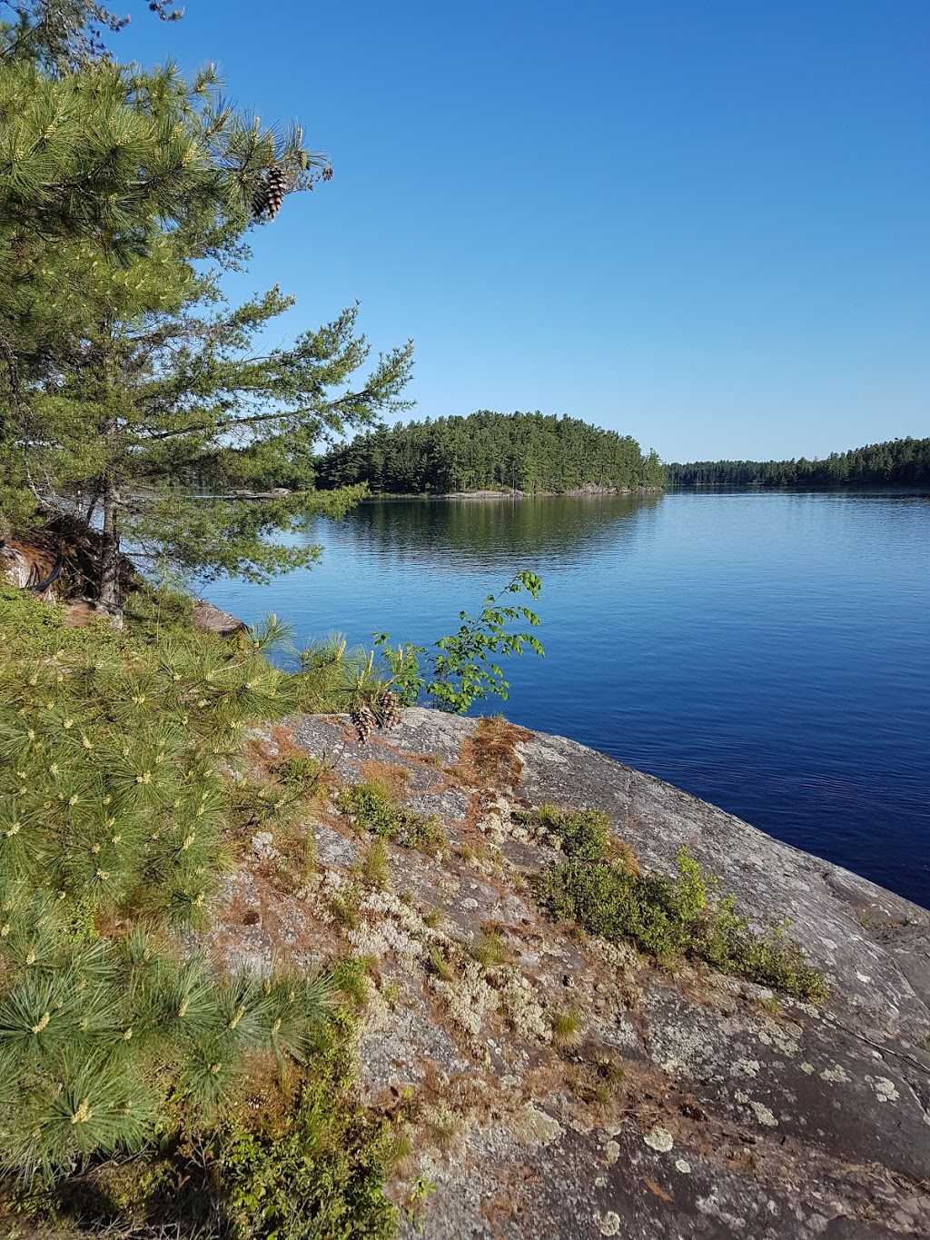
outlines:
[{"label": "far dark treeline on the horizon, right of the island", "polygon": [[889,439],[808,461],[691,461],[666,465],[670,486],[842,486],[930,482],[930,439]]}]

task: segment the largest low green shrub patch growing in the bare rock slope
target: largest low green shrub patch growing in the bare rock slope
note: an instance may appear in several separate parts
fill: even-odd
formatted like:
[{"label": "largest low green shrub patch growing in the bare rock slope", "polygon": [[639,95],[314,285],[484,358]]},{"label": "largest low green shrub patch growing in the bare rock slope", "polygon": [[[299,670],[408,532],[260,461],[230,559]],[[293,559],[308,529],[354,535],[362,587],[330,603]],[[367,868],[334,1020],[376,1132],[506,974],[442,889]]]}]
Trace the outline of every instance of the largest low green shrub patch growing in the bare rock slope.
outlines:
[{"label": "largest low green shrub patch growing in the bare rock slope", "polygon": [[537,894],[549,914],[579,923],[613,942],[671,961],[703,960],[724,973],[815,1002],[826,998],[823,977],[806,963],[782,928],[754,934],[732,895],[712,904],[715,880],[682,851],[678,878],[641,874],[627,862],[572,859],[538,875]]}]

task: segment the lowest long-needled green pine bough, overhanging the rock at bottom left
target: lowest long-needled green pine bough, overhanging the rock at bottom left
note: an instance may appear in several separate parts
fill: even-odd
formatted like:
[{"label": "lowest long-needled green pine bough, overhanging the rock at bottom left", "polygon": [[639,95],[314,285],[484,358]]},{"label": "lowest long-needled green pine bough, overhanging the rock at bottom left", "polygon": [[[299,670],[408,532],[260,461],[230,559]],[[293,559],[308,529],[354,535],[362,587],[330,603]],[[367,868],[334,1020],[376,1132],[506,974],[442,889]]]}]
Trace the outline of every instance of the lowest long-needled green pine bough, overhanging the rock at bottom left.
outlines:
[{"label": "lowest long-needled green pine bough, overhanging the rock at bottom left", "polygon": [[212,976],[141,928],[76,932],[66,901],[22,885],[0,906],[0,1169],[26,1182],[140,1148],[169,1090],[211,1118],[244,1054],[304,1059],[327,1018],[321,977]]}]

